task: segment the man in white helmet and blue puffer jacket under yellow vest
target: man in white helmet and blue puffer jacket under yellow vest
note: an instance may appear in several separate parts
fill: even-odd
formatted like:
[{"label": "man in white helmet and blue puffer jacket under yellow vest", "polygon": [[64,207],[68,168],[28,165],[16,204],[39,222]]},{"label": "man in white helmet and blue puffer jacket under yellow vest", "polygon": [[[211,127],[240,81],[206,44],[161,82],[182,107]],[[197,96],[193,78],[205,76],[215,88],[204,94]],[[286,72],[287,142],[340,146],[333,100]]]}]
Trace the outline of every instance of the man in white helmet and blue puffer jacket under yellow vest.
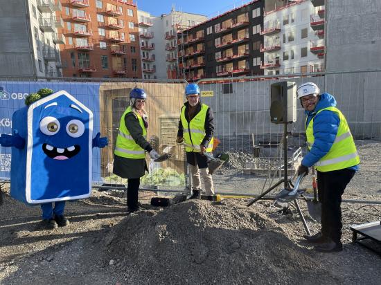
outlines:
[{"label": "man in white helmet and blue puffer jacket under yellow vest", "polygon": [[346,118],[336,108],[336,100],[328,93],[320,94],[319,87],[307,82],[296,89],[305,109],[305,135],[310,150],[301,161],[297,174],[308,174],[308,167],[317,169],[319,201],[321,202],[321,231],[304,236],[317,243],[315,250],[342,250],[342,194],[359,169],[360,158]]}]

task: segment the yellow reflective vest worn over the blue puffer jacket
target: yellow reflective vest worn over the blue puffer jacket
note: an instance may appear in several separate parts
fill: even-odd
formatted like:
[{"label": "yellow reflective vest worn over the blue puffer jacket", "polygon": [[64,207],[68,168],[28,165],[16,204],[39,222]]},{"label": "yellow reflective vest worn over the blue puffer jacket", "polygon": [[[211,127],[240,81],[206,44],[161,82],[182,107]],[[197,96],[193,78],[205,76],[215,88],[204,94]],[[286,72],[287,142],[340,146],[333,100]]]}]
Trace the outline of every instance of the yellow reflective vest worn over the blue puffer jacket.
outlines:
[{"label": "yellow reflective vest worn over the blue puffer jacket", "polygon": [[[358,165],[360,163],[360,157],[357,154],[355,141],[353,140],[353,136],[349,129],[348,123],[346,122],[346,118],[336,107],[321,109],[315,116],[325,110],[335,112],[337,116],[339,116],[340,123],[337,129],[336,138],[330,148],[330,151],[328,151],[325,156],[320,158],[320,160],[315,163],[315,168],[320,172],[328,172]],[[307,119],[305,120],[305,123],[307,123]],[[308,126],[305,127],[305,134],[307,136],[307,144],[309,149],[311,149],[314,144],[313,126],[314,118],[312,118]]]}]

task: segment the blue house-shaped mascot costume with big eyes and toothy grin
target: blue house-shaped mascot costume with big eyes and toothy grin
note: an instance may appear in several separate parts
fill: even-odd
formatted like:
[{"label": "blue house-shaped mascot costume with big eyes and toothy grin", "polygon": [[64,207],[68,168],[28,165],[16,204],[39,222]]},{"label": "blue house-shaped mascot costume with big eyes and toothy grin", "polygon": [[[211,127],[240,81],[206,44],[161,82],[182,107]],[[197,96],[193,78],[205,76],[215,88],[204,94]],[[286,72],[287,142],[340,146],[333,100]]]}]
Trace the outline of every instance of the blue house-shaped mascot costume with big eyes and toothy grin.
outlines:
[{"label": "blue house-shaped mascot costume with big eyes and toothy grin", "polygon": [[12,135],[0,136],[12,147],[10,194],[41,204],[44,228],[67,226],[65,201],[91,195],[92,148],[105,147],[107,138],[92,138],[93,113],[66,91],[29,96],[38,100],[15,111]]}]

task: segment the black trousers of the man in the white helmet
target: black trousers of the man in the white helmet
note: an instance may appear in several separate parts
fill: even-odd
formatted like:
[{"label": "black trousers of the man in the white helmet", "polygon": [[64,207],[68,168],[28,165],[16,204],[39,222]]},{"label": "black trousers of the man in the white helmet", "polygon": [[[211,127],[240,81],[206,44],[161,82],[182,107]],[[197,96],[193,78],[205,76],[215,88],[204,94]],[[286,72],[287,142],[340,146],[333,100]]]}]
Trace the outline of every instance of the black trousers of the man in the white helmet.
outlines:
[{"label": "black trousers of the man in the white helmet", "polygon": [[342,194],[355,175],[353,169],[317,172],[318,197],[321,203],[321,232],[335,243],[342,238]]}]

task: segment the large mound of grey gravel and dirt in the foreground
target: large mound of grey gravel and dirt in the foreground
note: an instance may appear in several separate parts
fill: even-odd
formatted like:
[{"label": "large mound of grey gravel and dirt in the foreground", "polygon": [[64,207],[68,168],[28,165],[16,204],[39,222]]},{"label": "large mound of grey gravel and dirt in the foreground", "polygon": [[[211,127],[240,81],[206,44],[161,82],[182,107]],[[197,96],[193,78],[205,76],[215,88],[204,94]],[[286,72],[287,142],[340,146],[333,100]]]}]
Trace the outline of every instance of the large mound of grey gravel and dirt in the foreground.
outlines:
[{"label": "large mound of grey gravel and dirt in the foreground", "polygon": [[188,201],[126,217],[105,237],[103,261],[129,284],[333,282],[282,227],[242,201]]}]

